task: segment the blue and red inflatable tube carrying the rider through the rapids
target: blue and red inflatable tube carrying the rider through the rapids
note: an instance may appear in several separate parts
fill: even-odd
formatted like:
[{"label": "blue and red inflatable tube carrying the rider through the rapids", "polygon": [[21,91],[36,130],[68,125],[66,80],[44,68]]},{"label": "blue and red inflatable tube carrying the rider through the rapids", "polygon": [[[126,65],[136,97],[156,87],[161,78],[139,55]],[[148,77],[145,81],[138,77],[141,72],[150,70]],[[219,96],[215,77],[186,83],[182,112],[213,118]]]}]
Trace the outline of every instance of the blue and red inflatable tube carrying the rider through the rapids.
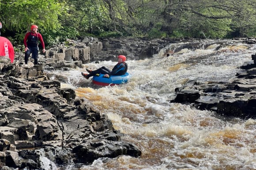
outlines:
[{"label": "blue and red inflatable tube carrying the rider through the rapids", "polygon": [[104,74],[97,74],[96,76],[93,76],[92,82],[94,84],[100,85],[100,86],[113,86],[113,85],[119,85],[126,83],[130,78],[130,74],[126,72],[122,76],[110,76],[110,77],[104,77]]}]

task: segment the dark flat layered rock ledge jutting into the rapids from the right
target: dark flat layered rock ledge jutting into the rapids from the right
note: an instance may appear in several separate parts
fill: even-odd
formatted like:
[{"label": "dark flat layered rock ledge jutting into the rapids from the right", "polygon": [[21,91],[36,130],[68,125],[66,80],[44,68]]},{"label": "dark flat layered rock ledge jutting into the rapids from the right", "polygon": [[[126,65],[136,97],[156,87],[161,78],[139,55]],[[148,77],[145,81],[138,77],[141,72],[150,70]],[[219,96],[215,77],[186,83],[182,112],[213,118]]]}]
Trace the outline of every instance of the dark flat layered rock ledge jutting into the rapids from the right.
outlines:
[{"label": "dark flat layered rock ledge jutting into the rapids from the right", "polygon": [[171,102],[186,103],[200,110],[211,110],[222,116],[256,119],[256,54],[254,64],[241,66],[241,72],[230,82],[195,82],[192,87],[177,89]]}]

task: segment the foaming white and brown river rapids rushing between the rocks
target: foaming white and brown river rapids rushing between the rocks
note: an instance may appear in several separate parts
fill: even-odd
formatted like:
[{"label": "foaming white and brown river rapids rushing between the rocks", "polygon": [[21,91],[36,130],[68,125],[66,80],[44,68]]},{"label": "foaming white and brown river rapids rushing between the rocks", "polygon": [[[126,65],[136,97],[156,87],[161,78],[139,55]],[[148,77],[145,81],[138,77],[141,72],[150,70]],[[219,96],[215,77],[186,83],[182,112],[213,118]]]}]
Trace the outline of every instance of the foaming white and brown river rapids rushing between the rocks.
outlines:
[{"label": "foaming white and brown river rapids rushing between the rocks", "polygon": [[[222,42],[223,41],[223,42]],[[219,42],[228,44],[218,48]],[[84,69],[53,71],[53,79],[72,87],[77,97],[86,98],[108,115],[124,141],[136,144],[139,158],[102,158],[80,170],[253,170],[256,169],[256,120],[225,118],[189,105],[170,103],[177,87],[189,88],[195,81],[228,81],[241,65],[253,63],[256,44],[241,40],[198,40],[198,49],[170,44],[154,58],[128,60],[132,75],[127,84],[98,87],[81,76],[81,71],[117,62],[85,64]],[[207,44],[207,45],[206,45]],[[210,45],[211,44],[211,45]],[[164,51],[173,51],[166,57]],[[67,169],[78,169],[70,165]]]}]

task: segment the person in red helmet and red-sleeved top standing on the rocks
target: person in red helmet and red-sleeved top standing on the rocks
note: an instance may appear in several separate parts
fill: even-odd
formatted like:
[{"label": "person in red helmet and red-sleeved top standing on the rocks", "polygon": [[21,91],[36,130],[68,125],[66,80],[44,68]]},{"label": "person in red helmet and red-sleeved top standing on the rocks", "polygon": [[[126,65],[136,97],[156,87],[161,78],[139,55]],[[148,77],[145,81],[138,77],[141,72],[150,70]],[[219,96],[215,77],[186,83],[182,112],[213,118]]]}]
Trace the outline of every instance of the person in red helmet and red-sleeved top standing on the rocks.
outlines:
[{"label": "person in red helmet and red-sleeved top standing on the rocks", "polygon": [[34,65],[38,65],[38,40],[41,42],[43,47],[43,53],[45,53],[45,43],[42,35],[38,33],[37,25],[31,25],[30,30],[30,32],[26,33],[23,41],[25,45],[25,64],[27,64],[28,58],[32,53],[32,58],[34,58]]}]

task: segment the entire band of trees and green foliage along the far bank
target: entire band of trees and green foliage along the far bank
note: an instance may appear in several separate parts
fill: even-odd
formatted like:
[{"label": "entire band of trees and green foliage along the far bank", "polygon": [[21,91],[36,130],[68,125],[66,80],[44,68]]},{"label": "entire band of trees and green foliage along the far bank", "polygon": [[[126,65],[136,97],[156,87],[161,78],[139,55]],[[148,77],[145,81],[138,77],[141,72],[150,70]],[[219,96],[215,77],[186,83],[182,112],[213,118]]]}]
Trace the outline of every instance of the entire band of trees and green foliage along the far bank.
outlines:
[{"label": "entire band of trees and green foliage along the far bank", "polygon": [[23,44],[30,25],[46,46],[98,37],[256,36],[256,0],[0,0],[2,33]]}]

